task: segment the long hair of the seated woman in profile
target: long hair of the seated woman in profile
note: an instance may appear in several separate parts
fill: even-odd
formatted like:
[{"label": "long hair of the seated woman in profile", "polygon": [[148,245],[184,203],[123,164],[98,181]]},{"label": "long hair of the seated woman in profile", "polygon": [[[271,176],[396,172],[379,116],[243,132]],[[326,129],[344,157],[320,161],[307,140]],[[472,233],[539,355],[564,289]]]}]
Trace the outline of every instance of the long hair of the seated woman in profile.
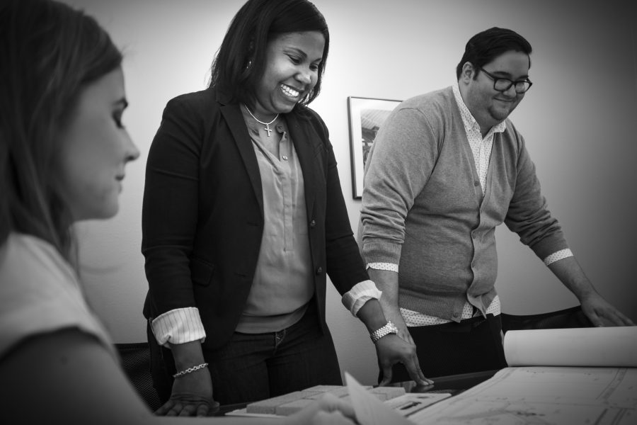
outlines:
[{"label": "long hair of the seated woman in profile", "polygon": [[2,0],[0,244],[9,232],[32,234],[69,258],[57,135],[84,86],[121,63],[108,33],[82,11],[53,0]]}]

